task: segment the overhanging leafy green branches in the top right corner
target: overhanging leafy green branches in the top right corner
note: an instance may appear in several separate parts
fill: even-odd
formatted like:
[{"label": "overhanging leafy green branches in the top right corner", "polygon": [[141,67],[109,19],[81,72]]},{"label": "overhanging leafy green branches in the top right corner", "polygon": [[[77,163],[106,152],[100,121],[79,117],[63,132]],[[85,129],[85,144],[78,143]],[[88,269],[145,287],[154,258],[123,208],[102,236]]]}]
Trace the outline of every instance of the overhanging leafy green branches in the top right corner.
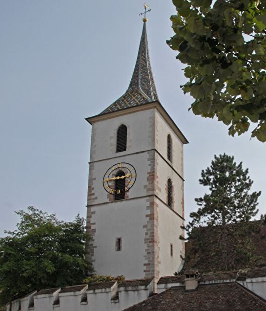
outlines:
[{"label": "overhanging leafy green branches in the top right corner", "polygon": [[[212,3],[214,2],[214,3]],[[248,131],[266,141],[266,0],[173,0],[175,35],[195,101],[190,109],[218,117],[234,136]]]}]

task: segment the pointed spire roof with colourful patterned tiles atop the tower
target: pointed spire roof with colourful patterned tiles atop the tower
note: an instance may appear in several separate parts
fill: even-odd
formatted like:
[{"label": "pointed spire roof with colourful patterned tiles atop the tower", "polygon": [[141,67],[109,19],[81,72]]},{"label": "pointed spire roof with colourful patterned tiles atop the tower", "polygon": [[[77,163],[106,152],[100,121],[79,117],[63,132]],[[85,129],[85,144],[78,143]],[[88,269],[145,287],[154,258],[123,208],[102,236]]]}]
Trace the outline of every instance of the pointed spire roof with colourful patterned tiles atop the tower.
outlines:
[{"label": "pointed spire roof with colourful patterned tiles atop the tower", "polygon": [[102,111],[101,114],[139,106],[156,100],[158,100],[158,95],[150,65],[146,22],[144,22],[137,62],[129,87],[123,96]]}]

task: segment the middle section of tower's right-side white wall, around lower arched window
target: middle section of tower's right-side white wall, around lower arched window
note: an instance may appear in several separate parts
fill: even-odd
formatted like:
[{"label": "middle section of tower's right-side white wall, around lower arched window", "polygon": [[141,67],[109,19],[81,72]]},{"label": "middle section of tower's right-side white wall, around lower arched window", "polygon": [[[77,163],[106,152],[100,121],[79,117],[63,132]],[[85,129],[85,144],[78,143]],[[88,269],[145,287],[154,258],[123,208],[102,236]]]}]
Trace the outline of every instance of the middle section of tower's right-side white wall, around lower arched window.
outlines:
[{"label": "middle section of tower's right-side white wall, around lower arched window", "polygon": [[167,180],[171,178],[173,183],[173,210],[183,217],[184,181],[165,163],[159,155],[156,155],[156,172],[158,175],[158,185],[161,191],[156,191],[156,195],[167,204]]}]

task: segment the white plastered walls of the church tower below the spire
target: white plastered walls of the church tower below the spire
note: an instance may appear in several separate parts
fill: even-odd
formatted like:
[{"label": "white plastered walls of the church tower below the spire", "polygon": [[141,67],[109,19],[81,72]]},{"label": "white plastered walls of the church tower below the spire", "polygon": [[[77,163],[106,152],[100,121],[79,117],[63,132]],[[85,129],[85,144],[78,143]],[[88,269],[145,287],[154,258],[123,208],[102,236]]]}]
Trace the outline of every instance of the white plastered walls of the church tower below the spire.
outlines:
[{"label": "white plastered walls of the church tower below the spire", "polygon": [[[127,149],[116,153],[121,124],[127,126]],[[172,163],[167,160],[168,133],[172,137]],[[96,273],[156,280],[171,275],[178,270],[180,253],[184,252],[184,243],[178,239],[184,217],[182,142],[152,108],[93,123],[91,144],[87,223],[92,240],[87,247]],[[137,178],[126,200],[112,201],[102,179],[110,167],[121,162],[133,165]],[[172,208],[176,213],[167,207],[168,178],[173,183]],[[162,201],[158,200],[159,207],[154,205],[156,196]],[[121,251],[115,250],[118,237],[122,238]]]}]

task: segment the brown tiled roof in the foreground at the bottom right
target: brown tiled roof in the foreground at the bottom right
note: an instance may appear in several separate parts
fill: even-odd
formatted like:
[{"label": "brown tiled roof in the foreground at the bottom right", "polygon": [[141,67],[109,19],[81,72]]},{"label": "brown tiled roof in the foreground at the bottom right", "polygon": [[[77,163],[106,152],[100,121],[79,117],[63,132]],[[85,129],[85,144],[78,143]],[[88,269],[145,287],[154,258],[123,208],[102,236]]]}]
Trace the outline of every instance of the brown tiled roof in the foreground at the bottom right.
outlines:
[{"label": "brown tiled roof in the foreground at the bottom right", "polygon": [[184,286],[167,289],[124,311],[263,311],[266,302],[239,284],[200,285],[194,291]]}]

